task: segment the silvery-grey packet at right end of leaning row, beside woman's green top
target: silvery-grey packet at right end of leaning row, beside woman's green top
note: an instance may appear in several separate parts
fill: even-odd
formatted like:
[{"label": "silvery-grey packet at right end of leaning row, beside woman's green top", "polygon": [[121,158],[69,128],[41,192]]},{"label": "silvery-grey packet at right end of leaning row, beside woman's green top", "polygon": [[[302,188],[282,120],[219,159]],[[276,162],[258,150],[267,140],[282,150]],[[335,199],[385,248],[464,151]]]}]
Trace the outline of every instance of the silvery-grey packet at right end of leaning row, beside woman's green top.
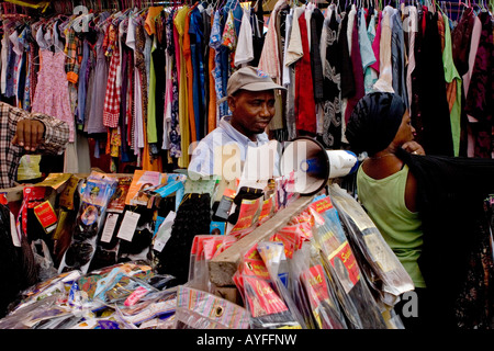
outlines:
[{"label": "silvery-grey packet at right end of leaning row, beside woman's green top", "polygon": [[336,184],[329,186],[329,193],[370,286],[393,306],[400,295],[414,290],[412,279],[362,206]]}]

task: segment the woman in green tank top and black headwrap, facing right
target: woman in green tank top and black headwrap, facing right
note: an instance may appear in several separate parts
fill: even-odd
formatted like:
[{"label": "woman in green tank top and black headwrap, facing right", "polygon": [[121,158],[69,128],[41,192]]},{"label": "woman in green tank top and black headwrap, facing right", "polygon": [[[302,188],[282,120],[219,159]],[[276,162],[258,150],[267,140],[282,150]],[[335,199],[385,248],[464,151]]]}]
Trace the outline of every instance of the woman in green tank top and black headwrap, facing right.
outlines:
[{"label": "woman in green tank top and black headwrap, facing right", "polygon": [[[357,103],[346,137],[355,152],[368,152],[357,173],[358,197],[415,283],[418,318],[402,317],[405,327],[458,327],[458,312],[465,312],[461,297],[472,287],[472,258],[479,250],[492,253],[482,226],[483,201],[494,192],[494,160],[425,156],[414,133],[398,95],[373,92]],[[480,281],[491,280],[492,267]],[[494,312],[494,291],[480,285],[472,298],[486,296],[482,308],[469,310],[479,320]]]}]

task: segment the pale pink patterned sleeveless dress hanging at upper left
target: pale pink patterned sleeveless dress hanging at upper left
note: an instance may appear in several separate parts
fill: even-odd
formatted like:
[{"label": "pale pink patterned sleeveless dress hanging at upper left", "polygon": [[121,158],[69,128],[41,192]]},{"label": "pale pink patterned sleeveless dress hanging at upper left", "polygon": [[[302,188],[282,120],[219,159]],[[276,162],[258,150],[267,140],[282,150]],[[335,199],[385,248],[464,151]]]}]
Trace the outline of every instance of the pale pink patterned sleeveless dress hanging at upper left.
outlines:
[{"label": "pale pink patterned sleeveless dress hanging at upper left", "polygon": [[67,122],[69,141],[74,143],[74,115],[70,109],[64,52],[40,49],[41,69],[34,92],[32,112],[40,112]]}]

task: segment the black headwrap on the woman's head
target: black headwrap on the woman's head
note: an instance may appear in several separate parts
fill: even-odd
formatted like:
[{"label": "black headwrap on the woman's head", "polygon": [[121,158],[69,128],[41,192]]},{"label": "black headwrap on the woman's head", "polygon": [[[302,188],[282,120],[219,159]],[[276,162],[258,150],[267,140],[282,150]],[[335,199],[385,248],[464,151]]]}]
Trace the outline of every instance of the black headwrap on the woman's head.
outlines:
[{"label": "black headwrap on the woman's head", "polygon": [[359,100],[348,121],[345,136],[355,152],[373,155],[393,141],[405,113],[402,98],[372,92]]}]

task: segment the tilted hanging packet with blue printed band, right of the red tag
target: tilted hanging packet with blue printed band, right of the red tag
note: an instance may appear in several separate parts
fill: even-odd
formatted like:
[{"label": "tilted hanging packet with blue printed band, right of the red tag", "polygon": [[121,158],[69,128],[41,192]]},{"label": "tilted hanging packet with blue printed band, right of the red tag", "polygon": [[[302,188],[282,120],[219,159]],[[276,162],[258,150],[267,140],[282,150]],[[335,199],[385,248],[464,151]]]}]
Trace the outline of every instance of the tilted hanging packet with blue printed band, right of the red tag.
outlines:
[{"label": "tilted hanging packet with blue printed band, right of the red tag", "polygon": [[72,240],[58,268],[58,272],[78,269],[87,273],[97,248],[98,234],[104,220],[108,203],[115,191],[116,179],[91,172],[81,189],[80,206]]}]

